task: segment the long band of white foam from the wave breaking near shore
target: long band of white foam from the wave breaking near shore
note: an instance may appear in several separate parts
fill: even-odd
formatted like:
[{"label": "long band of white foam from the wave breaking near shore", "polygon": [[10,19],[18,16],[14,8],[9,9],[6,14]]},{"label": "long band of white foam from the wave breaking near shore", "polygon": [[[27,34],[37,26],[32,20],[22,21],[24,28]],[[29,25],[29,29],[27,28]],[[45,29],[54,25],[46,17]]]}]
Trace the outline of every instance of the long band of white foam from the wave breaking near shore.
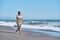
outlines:
[{"label": "long band of white foam from the wave breaking near shore", "polygon": [[[3,25],[3,26],[11,26],[11,27],[14,27],[14,25],[16,25],[15,22],[5,22],[5,21],[0,21],[0,25]],[[60,28],[59,27],[53,27],[53,25],[57,25],[56,23],[54,24],[48,24],[48,25],[25,25],[23,24],[21,28],[27,28],[27,29],[45,29],[45,30],[54,30],[54,31],[59,31],[60,32]],[[60,23],[59,23],[60,25]]]}]

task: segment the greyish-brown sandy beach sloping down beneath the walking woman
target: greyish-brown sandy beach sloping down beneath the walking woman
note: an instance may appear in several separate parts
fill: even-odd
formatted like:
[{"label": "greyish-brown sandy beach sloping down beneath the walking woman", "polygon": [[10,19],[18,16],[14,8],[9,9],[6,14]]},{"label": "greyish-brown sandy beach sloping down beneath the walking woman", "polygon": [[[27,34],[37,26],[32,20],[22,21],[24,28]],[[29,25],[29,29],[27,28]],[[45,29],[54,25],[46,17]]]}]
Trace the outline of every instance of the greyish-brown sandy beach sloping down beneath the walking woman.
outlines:
[{"label": "greyish-brown sandy beach sloping down beneath the walking woman", "polygon": [[16,33],[12,27],[0,26],[0,40],[60,40],[59,37],[47,36],[40,33],[40,35],[34,32],[21,30],[20,33]]}]

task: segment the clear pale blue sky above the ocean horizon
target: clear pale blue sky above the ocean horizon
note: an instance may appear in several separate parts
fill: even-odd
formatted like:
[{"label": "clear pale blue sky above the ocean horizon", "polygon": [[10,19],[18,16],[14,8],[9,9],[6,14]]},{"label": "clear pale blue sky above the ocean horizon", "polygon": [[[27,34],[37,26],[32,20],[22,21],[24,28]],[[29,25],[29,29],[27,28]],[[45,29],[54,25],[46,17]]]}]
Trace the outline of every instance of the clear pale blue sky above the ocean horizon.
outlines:
[{"label": "clear pale blue sky above the ocean horizon", "polygon": [[60,19],[60,0],[0,0],[0,19]]}]

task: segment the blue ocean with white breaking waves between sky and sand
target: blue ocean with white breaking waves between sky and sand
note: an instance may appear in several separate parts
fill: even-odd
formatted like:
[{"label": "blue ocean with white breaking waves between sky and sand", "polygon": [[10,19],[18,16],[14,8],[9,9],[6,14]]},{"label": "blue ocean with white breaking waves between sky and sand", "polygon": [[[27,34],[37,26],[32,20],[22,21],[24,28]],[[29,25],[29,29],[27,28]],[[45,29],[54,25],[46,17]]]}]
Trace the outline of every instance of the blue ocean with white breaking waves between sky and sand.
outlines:
[{"label": "blue ocean with white breaking waves between sky and sand", "polygon": [[[15,20],[0,20],[0,25],[17,29]],[[60,37],[60,20],[24,20],[21,30]]]}]

